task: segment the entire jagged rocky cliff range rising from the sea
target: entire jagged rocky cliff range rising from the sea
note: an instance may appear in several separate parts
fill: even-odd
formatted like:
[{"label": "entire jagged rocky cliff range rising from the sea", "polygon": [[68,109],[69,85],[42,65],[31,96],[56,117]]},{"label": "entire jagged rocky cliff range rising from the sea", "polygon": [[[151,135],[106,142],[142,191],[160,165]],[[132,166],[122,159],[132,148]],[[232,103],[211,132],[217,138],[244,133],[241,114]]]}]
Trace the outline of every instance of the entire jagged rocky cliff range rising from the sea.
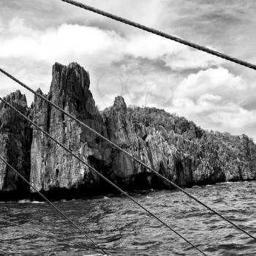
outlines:
[{"label": "entire jagged rocky cliff range rising from the sea", "polygon": [[[157,108],[128,108],[122,97],[99,113],[89,90],[89,73],[78,64],[55,64],[48,97],[157,172],[181,186],[256,178],[256,146],[246,135],[206,132],[192,121]],[[42,94],[42,91],[38,91]],[[35,97],[29,110],[16,92],[7,99],[64,146],[125,189],[167,187],[144,167],[75,121]],[[109,192],[94,173],[22,118],[0,105],[0,151],[42,192],[76,197]],[[0,164],[0,190],[23,183]],[[27,189],[27,188],[26,188]]]}]

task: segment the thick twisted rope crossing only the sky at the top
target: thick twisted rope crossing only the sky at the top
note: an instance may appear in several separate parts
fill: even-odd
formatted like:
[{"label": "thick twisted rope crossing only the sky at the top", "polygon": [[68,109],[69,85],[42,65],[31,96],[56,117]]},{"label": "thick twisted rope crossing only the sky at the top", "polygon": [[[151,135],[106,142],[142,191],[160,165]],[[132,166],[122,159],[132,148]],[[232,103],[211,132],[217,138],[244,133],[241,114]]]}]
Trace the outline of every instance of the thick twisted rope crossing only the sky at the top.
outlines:
[{"label": "thick twisted rope crossing only the sky at the top", "polygon": [[95,13],[97,13],[99,15],[103,15],[103,16],[111,18],[113,20],[117,20],[117,21],[119,21],[121,23],[125,23],[125,24],[127,24],[129,26],[134,26],[135,28],[142,29],[144,31],[148,31],[148,32],[150,32],[152,34],[157,34],[160,37],[165,37],[167,39],[179,42],[179,43],[181,43],[183,45],[187,45],[187,46],[195,48],[197,50],[202,50],[205,53],[209,53],[209,54],[217,56],[219,58],[226,59],[227,61],[235,62],[236,64],[239,64],[241,66],[249,67],[250,69],[255,69],[256,70],[256,65],[255,64],[251,64],[249,62],[242,61],[241,59],[236,59],[236,58],[228,56],[228,55],[226,55],[224,53],[220,53],[217,50],[211,50],[211,49],[206,48],[206,47],[204,47],[202,45],[197,45],[194,42],[189,42],[188,40],[182,39],[180,37],[176,37],[176,36],[167,34],[165,32],[159,31],[157,29],[149,28],[148,26],[144,26],[144,25],[141,25],[140,23],[135,23],[132,20],[127,20],[127,19],[121,18],[121,17],[119,17],[117,15],[113,15],[113,14],[111,14],[109,12],[105,12],[105,11],[99,10],[97,8],[90,7],[89,5],[82,4],[82,3],[78,2],[78,1],[72,1],[72,0],[61,0],[61,1],[64,1],[64,2],[66,2],[68,4],[75,5],[76,7],[83,8],[85,10],[89,10],[91,12],[95,12]]}]

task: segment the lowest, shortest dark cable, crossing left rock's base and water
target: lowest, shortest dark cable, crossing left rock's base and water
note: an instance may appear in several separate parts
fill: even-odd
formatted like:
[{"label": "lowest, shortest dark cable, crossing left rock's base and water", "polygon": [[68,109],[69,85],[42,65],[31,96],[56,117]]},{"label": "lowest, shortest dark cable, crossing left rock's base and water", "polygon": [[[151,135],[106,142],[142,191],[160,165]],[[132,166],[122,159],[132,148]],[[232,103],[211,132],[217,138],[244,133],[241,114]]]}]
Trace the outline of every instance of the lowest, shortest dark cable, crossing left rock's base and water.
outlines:
[{"label": "lowest, shortest dark cable, crossing left rock's base and water", "polygon": [[[1,97],[0,97],[1,99]],[[4,99],[1,99],[3,102],[5,102],[7,105],[10,106],[10,108],[12,108],[13,110],[15,110],[15,108],[12,107],[12,105],[10,105],[8,102],[6,102]],[[23,113],[21,113],[20,111],[17,110],[18,113],[20,113],[23,117],[25,117],[25,115],[23,115]],[[26,117],[27,118],[27,117]],[[27,118],[27,120],[30,120],[29,118]],[[20,178],[23,179],[23,181],[26,182],[26,184],[29,184],[29,186],[34,189],[44,200],[46,200],[48,203],[50,203],[51,206],[53,206],[53,208],[56,209],[56,211],[58,211],[65,219],[67,219],[74,227],[76,227],[81,233],[83,233],[84,236],[86,236],[86,238],[88,238],[91,243],[94,244],[94,246],[96,246],[99,250],[101,250],[105,255],[108,255],[107,252],[105,252],[104,249],[100,248],[99,245],[97,245],[94,240],[92,240],[90,238],[90,236],[88,234],[86,234],[83,230],[80,229],[80,227],[78,227],[78,225],[75,224],[75,222],[72,222],[71,219],[69,219],[69,217],[67,217],[66,214],[64,214],[57,206],[55,206],[53,203],[50,202],[50,200],[48,200],[44,195],[42,195],[41,192],[39,192],[38,189],[36,189],[29,181],[26,180],[26,178],[23,177],[23,175],[21,175],[18,170],[15,169],[15,167],[12,167],[12,165],[10,165],[3,157],[0,156],[0,159],[2,162],[4,162],[6,165],[8,165],[15,173],[18,174],[18,176],[20,176]]]}]

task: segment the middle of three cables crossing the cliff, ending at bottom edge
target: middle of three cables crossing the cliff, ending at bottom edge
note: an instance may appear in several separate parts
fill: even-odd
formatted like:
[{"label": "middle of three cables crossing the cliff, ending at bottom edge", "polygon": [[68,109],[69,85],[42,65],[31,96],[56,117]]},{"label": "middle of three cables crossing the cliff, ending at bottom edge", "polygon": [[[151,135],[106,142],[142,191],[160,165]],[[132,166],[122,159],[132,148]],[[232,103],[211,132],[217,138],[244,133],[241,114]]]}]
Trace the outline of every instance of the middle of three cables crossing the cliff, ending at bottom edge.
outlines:
[{"label": "middle of three cables crossing the cliff, ending at bottom edge", "polygon": [[[103,180],[105,180],[106,182],[108,182],[108,184],[110,184],[112,187],[116,188],[119,192],[121,192],[123,195],[125,195],[126,197],[128,197],[130,200],[132,200],[132,202],[136,203],[138,206],[140,206],[140,208],[143,208],[144,211],[146,211],[148,214],[151,215],[151,217],[154,217],[155,219],[157,219],[159,222],[162,223],[162,225],[164,225],[165,227],[167,227],[169,230],[173,231],[173,233],[176,233],[177,236],[179,236],[180,238],[184,239],[184,241],[186,241],[188,244],[190,244],[191,246],[193,246],[195,249],[197,249],[197,251],[199,251],[200,253],[202,253],[203,255],[206,255],[203,251],[201,251],[197,246],[195,246],[194,244],[192,244],[192,242],[190,242],[189,240],[187,240],[187,238],[185,238],[184,236],[182,236],[180,233],[178,233],[176,230],[173,230],[172,227],[170,227],[169,225],[167,225],[165,222],[162,221],[162,219],[159,219],[159,217],[157,217],[155,214],[151,213],[151,211],[149,211],[146,207],[144,207],[143,205],[141,205],[140,203],[138,203],[134,198],[132,198],[130,195],[127,194],[127,192],[124,192],[124,190],[120,189],[118,186],[116,186],[116,184],[113,184],[112,181],[110,181],[108,178],[106,178],[105,176],[102,175],[102,173],[99,173],[94,167],[92,167],[91,165],[89,165],[87,162],[85,162],[83,159],[80,159],[80,157],[78,157],[76,154],[74,154],[72,151],[69,150],[69,148],[67,148],[66,146],[64,146],[62,143],[60,143],[58,140],[56,140],[55,138],[53,138],[53,136],[49,135],[48,132],[45,132],[44,129],[42,129],[41,127],[39,127],[37,124],[34,123],[34,121],[31,121],[27,116],[25,116],[23,113],[21,113],[17,108],[13,107],[9,102],[7,102],[5,99],[2,99],[0,97],[0,100],[2,102],[4,102],[6,105],[8,105],[10,108],[12,108],[12,110],[15,110],[17,113],[20,114],[20,116],[23,116],[23,118],[25,118],[27,121],[29,121],[34,127],[36,127],[36,129],[38,129],[40,132],[42,132],[44,135],[48,136],[48,138],[50,138],[51,140],[53,140],[56,144],[58,144],[59,146],[61,146],[61,148],[64,148],[65,151],[67,151],[69,154],[71,154],[73,157],[75,157],[76,159],[78,159],[78,161],[82,162],[83,165],[86,165],[87,167],[91,168],[91,170],[94,171],[94,173],[97,173],[97,175],[99,177],[101,177]],[[1,159],[1,157],[0,157]],[[5,161],[6,162],[6,161]],[[28,181],[27,181],[28,182]],[[34,188],[34,187],[33,187]],[[37,191],[37,190],[36,190]],[[40,193],[41,194],[41,193]],[[43,195],[42,195],[43,196]]]}]

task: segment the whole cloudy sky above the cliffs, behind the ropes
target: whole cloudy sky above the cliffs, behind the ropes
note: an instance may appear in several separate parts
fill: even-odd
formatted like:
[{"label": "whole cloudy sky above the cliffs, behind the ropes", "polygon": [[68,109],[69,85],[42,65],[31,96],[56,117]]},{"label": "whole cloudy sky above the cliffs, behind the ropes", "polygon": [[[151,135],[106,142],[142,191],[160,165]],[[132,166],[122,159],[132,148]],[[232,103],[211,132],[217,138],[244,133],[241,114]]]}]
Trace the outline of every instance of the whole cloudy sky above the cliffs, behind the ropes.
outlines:
[{"label": "whole cloudy sky above the cliffs, behind the ropes", "polygon": [[[254,0],[80,1],[256,64]],[[56,61],[89,71],[100,109],[122,95],[256,140],[256,71],[60,0],[0,0],[1,67],[48,93]],[[1,96],[16,89],[0,75]]]}]

